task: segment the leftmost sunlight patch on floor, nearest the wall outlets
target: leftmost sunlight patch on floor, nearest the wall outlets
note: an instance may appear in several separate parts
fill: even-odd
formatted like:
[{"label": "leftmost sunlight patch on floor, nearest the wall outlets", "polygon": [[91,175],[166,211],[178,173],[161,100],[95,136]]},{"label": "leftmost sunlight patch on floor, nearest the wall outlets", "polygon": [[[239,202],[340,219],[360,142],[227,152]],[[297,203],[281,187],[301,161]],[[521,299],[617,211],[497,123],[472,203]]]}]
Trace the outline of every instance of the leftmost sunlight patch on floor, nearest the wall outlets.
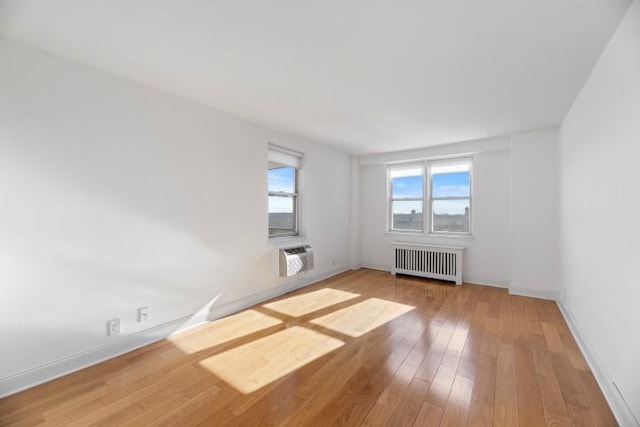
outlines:
[{"label": "leftmost sunlight patch on floor, nearest the wall outlets", "polygon": [[255,310],[246,310],[233,316],[215,320],[199,329],[197,334],[168,338],[185,353],[196,353],[225,342],[244,337],[254,332],[282,323],[282,320]]}]

